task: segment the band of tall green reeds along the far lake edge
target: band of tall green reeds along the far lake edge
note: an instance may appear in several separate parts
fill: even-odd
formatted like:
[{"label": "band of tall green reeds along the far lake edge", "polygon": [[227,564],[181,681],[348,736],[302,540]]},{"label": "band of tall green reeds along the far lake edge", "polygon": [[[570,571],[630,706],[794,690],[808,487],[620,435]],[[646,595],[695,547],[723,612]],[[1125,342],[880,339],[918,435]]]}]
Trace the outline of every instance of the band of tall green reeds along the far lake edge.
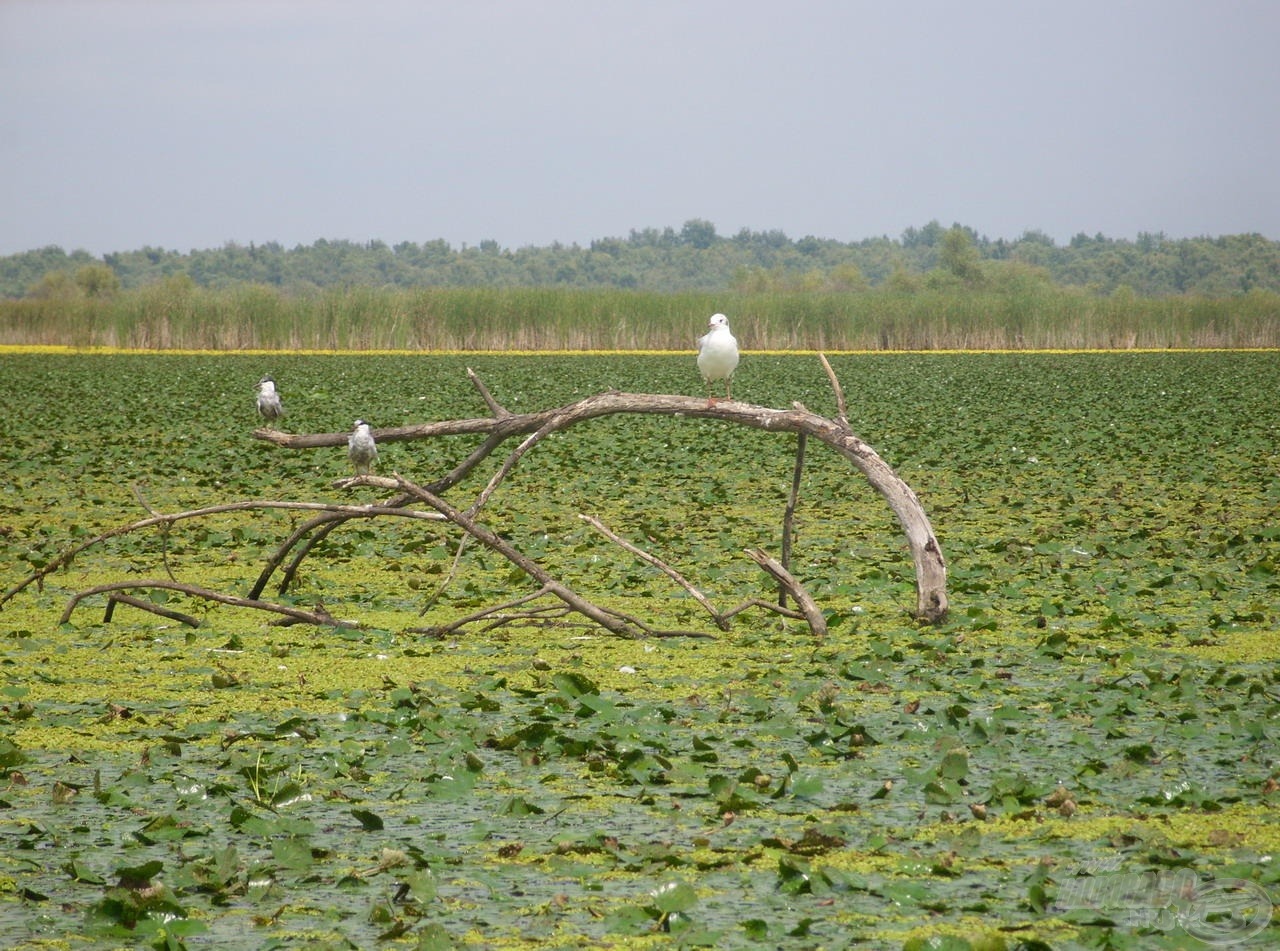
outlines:
[{"label": "band of tall green reeds along the far lake edge", "polygon": [[754,349],[1280,346],[1280,294],[1098,296],[1053,285],[861,292],[155,284],[0,301],[0,343],[138,349],[689,349],[722,311]]}]

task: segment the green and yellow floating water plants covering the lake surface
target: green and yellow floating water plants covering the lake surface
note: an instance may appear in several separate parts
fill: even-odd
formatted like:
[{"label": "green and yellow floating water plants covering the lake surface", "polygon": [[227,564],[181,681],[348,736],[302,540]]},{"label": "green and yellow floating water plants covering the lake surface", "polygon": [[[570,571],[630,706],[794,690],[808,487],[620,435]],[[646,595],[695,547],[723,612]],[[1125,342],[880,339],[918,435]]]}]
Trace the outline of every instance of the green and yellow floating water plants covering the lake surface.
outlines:
[{"label": "green and yellow floating water plants covering the lake surface", "polygon": [[[296,516],[122,538],[0,608],[0,943],[1275,943],[1280,355],[832,362],[855,431],[929,509],[945,623],[910,619],[891,513],[818,453],[794,570],[829,607],[822,643],[768,616],[699,640],[410,635],[429,599],[426,621],[529,584],[463,552],[442,591],[457,536],[424,523],[308,561],[291,596],[358,630],[182,598],[198,627],[127,607],[59,625],[122,572],[247,587]],[[339,431],[357,407],[484,415],[467,364],[511,406],[700,387],[689,357],[4,355],[0,581],[140,498],[352,500],[340,451],[250,438],[268,370],[291,426]],[[739,387],[833,411],[813,357],[748,353]],[[792,451],[602,420],[539,445],[488,517],[594,596],[699,623],[577,513],[733,603],[759,584],[741,549],[777,544]],[[419,477],[439,462],[383,452]]]}]

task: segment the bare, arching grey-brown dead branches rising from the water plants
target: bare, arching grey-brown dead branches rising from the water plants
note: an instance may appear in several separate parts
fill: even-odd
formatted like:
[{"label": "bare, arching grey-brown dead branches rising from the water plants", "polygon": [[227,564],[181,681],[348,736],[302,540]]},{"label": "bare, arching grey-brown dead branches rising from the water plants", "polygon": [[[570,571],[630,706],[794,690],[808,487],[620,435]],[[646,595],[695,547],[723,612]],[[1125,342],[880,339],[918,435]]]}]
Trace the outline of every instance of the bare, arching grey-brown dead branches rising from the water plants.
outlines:
[{"label": "bare, arching grey-brown dead branches rising from the water plants", "polygon": [[[18,591],[23,590],[27,585],[32,582],[42,584],[44,579],[49,573],[70,563],[77,554],[82,553],[87,548],[106,541],[108,539],[150,527],[159,527],[163,534],[163,540],[165,540],[164,536],[168,530],[175,522],[183,520],[198,518],[223,512],[250,511],[256,508],[282,508],[311,512],[312,517],[294,527],[293,531],[291,531],[275,549],[275,552],[266,559],[266,564],[264,566],[257,582],[253,585],[247,598],[220,594],[198,585],[183,584],[173,577],[169,571],[168,558],[165,557],[165,571],[169,573],[168,579],[115,582],[99,585],[86,591],[81,591],[67,605],[63,619],[68,619],[77,605],[79,605],[86,598],[105,594],[108,595],[105,617],[108,621],[111,618],[111,614],[118,604],[125,604],[191,626],[198,623],[197,618],[192,616],[161,608],[152,602],[127,594],[127,591],[152,589],[178,591],[192,598],[212,600],[232,607],[271,612],[282,616],[276,623],[312,623],[323,626],[358,627],[358,622],[356,621],[338,621],[333,618],[323,605],[316,605],[314,611],[307,611],[297,607],[274,604],[264,600],[261,594],[276,572],[280,572],[279,590],[283,593],[289,584],[292,584],[298,566],[312,552],[312,549],[323,541],[329,532],[340,527],[346,522],[353,518],[401,517],[449,522],[463,532],[458,543],[454,566],[449,572],[449,577],[452,577],[457,571],[458,559],[461,558],[466,541],[474,540],[500,554],[538,584],[538,589],[530,594],[513,598],[499,605],[485,608],[463,618],[458,618],[448,625],[429,628],[413,628],[420,632],[443,636],[456,632],[472,623],[483,622],[488,628],[509,623],[516,619],[530,622],[556,621],[562,623],[559,618],[563,618],[567,614],[579,614],[593,626],[603,627],[612,634],[627,637],[710,636],[698,631],[655,630],[639,618],[598,605],[590,599],[582,596],[580,593],[575,591],[568,585],[557,580],[549,571],[547,571],[547,568],[521,553],[515,545],[512,545],[512,543],[479,521],[479,516],[485,503],[502,485],[503,480],[520,463],[520,461],[548,435],[577,425],[579,422],[602,416],[618,413],[654,413],[677,419],[722,420],[772,433],[792,433],[797,438],[796,465],[792,476],[791,494],[783,515],[782,558],[781,561],[774,559],[758,549],[746,552],[746,555],[777,582],[777,603],[771,603],[760,598],[750,598],[732,609],[723,612],[717,611],[709,599],[707,599],[705,595],[690,584],[676,568],[664,563],[655,554],[627,541],[620,534],[600,522],[599,518],[589,515],[580,515],[582,520],[591,525],[593,529],[600,532],[609,541],[631,553],[634,557],[640,558],[645,563],[658,568],[672,581],[682,586],[708,612],[717,627],[721,630],[728,630],[730,619],[732,617],[748,608],[758,607],[783,617],[804,619],[815,636],[820,637],[826,634],[826,618],[823,617],[820,609],[808,591],[805,591],[800,581],[788,570],[792,520],[799,498],[805,445],[810,436],[826,443],[849,460],[854,467],[867,477],[872,486],[888,502],[890,507],[897,516],[904,532],[906,534],[908,547],[915,566],[915,617],[925,622],[941,621],[947,613],[946,563],[943,561],[941,548],[933,536],[928,517],[925,516],[924,509],[916,499],[915,493],[911,491],[910,486],[899,479],[892,468],[890,468],[890,466],[886,465],[869,445],[861,442],[861,439],[852,433],[846,417],[845,399],[844,393],[840,389],[840,383],[836,379],[835,372],[831,370],[831,365],[827,362],[826,357],[822,357],[822,362],[836,393],[840,411],[836,419],[818,416],[799,403],[794,404],[791,410],[772,410],[768,407],[732,401],[717,402],[713,404],[709,401],[694,397],[620,393],[616,390],[598,393],[576,403],[552,410],[532,413],[512,413],[497,399],[494,399],[493,394],[471,370],[467,370],[472,384],[476,387],[481,399],[489,408],[492,413],[490,416],[481,419],[445,420],[440,422],[399,426],[375,431],[378,442],[384,444],[448,435],[484,436],[480,444],[474,448],[462,460],[462,462],[434,483],[419,485],[398,474],[394,477],[362,475],[355,479],[344,479],[338,483],[342,488],[364,485],[392,491],[392,495],[384,502],[370,506],[334,506],[302,502],[239,502],[210,506],[207,508],[188,512],[163,515],[155,512],[155,509],[147,506],[145,499],[141,499],[140,497],[140,503],[143,504],[143,507],[150,512],[150,517],[105,532],[104,535],[64,552],[41,570],[28,576],[24,581],[5,591],[4,595],[0,596],[0,605],[13,598]],[[347,440],[346,433],[288,434],[278,430],[262,429],[256,430],[253,435],[257,439],[274,443],[275,445],[287,449],[339,447],[344,445]],[[508,453],[498,471],[476,494],[475,499],[467,508],[460,508],[443,497],[444,491],[461,483],[475,470],[477,465],[502,447],[503,443],[516,436],[524,436],[524,439]],[[422,504],[431,511],[426,512],[413,508],[413,506]],[[444,584],[447,585],[448,580],[445,580]],[[440,590],[443,593],[443,586]],[[433,596],[428,607],[430,607],[430,603],[434,603],[434,600],[439,598],[439,594],[440,593],[436,593],[436,595]],[[791,609],[787,607],[788,596],[795,600],[799,609]],[[534,602],[544,598],[552,598],[556,603],[549,607],[545,604],[534,604]],[[426,607],[424,607],[424,612],[425,611]]]}]

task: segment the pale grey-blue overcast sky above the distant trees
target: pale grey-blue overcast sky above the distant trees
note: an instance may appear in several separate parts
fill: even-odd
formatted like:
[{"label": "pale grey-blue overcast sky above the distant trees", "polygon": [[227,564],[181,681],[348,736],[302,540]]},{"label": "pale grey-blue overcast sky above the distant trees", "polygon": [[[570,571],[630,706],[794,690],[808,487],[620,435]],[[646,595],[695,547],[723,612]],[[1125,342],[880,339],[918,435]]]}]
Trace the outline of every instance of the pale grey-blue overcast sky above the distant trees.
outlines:
[{"label": "pale grey-blue overcast sky above the distant trees", "polygon": [[0,255],[1280,239],[1274,0],[0,0]]}]

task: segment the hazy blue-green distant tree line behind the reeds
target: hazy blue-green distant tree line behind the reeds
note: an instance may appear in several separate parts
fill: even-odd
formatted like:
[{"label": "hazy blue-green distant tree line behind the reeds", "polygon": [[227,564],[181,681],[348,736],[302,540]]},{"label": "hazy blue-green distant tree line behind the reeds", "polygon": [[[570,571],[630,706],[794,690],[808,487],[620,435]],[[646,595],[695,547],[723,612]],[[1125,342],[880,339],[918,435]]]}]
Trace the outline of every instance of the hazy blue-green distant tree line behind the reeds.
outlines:
[{"label": "hazy blue-green distant tree line behind the reeds", "polygon": [[726,237],[710,221],[691,219],[678,230],[645,228],[588,247],[321,239],[292,248],[278,242],[188,252],[143,247],[102,257],[45,247],[0,257],[0,297],[10,300],[95,298],[161,282],[212,289],[257,284],[287,294],[343,287],[847,293],[1057,284],[1100,296],[1231,297],[1280,292],[1280,242],[1260,234],[1143,233],[1132,241],[1078,234],[1057,244],[1038,230],[992,241],[938,221],[899,238],[794,241],[780,230],[745,228]]}]

